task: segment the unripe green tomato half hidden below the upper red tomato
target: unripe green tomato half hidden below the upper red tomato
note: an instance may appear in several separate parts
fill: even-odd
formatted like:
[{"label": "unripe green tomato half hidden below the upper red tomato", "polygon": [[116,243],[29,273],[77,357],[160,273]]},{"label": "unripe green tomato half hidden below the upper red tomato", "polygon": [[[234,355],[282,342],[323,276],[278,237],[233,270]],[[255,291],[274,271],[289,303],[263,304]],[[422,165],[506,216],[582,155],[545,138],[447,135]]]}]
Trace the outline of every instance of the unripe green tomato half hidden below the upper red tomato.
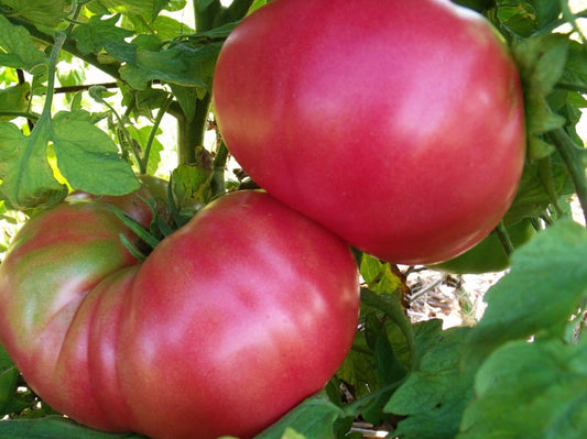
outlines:
[{"label": "unripe green tomato half hidden below the upper red tomato", "polygon": [[[506,228],[514,249],[530,241],[536,233],[530,219],[524,219]],[[503,245],[496,232],[491,232],[481,242],[467,252],[452,260],[431,265],[432,270],[439,270],[453,274],[480,274],[501,272],[510,266]]]}]

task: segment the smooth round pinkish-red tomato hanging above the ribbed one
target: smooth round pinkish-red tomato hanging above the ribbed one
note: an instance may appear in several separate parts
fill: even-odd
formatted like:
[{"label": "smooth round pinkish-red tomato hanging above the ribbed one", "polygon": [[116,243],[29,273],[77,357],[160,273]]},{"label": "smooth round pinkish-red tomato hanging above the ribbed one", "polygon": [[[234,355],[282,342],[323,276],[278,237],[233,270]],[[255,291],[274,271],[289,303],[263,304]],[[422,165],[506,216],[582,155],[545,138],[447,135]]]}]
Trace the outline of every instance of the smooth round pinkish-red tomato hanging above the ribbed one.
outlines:
[{"label": "smooth round pinkish-red tomato hanging above the ribbed one", "polygon": [[275,0],[229,35],[213,91],[257,184],[394,263],[471,248],[517,191],[517,67],[447,0]]}]

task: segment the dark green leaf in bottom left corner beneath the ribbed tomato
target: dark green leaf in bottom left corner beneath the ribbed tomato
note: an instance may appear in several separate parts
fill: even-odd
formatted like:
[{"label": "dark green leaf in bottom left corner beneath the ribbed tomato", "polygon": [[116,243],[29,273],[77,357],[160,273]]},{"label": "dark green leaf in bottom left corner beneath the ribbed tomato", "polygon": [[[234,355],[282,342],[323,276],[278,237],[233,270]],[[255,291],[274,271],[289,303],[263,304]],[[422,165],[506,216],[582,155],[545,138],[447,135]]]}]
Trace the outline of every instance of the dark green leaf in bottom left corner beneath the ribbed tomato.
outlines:
[{"label": "dark green leaf in bottom left corner beneath the ribbed tomato", "polygon": [[80,426],[61,416],[0,421],[2,439],[145,439],[135,433],[108,433]]}]

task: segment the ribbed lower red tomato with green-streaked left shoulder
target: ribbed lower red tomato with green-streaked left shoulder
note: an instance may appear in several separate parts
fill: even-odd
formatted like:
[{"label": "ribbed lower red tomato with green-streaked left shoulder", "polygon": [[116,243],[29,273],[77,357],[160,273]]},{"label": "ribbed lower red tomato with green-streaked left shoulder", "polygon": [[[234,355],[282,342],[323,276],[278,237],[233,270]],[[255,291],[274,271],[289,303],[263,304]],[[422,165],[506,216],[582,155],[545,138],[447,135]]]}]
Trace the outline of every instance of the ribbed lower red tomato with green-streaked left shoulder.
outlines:
[{"label": "ribbed lower red tomato with green-streaked left shoulder", "polygon": [[[137,200],[117,204],[143,218]],[[137,239],[105,198],[72,197],[31,219],[0,265],[0,342],[79,422],[251,437],[348,353],[359,307],[350,249],[268,194],[216,200],[142,263],[120,234]]]}]

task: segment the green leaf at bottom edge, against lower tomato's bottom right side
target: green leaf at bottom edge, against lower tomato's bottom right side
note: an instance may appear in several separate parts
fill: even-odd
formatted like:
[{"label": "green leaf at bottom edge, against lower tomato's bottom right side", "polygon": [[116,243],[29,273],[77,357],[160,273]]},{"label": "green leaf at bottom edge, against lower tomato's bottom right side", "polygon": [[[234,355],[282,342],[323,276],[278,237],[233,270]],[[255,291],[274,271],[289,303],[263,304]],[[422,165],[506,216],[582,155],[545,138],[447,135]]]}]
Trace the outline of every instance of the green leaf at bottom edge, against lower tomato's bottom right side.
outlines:
[{"label": "green leaf at bottom edge, against lower tomato's bottom right side", "polygon": [[257,435],[254,439],[297,439],[300,436],[295,436],[294,432],[308,439],[335,439],[334,424],[343,415],[343,410],[326,398],[311,397]]}]

